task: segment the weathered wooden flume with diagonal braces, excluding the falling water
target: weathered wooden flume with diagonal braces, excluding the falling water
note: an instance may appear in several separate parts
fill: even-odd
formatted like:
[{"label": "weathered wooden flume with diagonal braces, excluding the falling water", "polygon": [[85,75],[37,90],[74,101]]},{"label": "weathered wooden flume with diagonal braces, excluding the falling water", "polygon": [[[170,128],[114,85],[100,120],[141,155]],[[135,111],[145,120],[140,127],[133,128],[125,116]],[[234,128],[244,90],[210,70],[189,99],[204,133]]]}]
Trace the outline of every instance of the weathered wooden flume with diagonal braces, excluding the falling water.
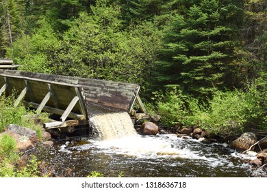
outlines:
[{"label": "weathered wooden flume with diagonal braces, excluding the falling water", "polygon": [[44,123],[46,130],[88,125],[88,108],[94,106],[130,114],[137,102],[146,112],[140,86],[131,83],[0,69],[0,88],[0,95],[16,93],[14,106],[23,102],[36,113],[57,115]]}]

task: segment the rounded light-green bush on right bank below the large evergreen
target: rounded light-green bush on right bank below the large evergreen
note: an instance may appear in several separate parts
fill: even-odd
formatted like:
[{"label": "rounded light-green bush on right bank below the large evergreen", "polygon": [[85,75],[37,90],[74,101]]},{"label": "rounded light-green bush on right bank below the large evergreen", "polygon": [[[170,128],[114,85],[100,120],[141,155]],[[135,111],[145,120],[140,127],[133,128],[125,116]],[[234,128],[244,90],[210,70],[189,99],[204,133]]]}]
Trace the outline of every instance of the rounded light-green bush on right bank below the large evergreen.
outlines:
[{"label": "rounded light-green bush on right bank below the large evergreen", "polygon": [[244,130],[251,104],[239,91],[216,91],[209,107],[195,115],[201,128],[220,135],[238,134]]}]

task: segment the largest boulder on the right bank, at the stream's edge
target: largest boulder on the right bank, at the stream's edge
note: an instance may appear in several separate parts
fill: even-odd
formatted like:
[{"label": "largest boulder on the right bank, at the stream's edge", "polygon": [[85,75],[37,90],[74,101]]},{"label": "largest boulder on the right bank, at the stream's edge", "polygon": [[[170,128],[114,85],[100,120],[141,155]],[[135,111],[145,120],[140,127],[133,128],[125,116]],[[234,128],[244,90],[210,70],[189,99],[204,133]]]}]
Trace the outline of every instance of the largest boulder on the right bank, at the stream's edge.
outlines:
[{"label": "largest boulder on the right bank, at the stream's edge", "polygon": [[[245,132],[240,137],[236,138],[230,143],[231,149],[236,149],[237,151],[246,151],[251,147],[251,145],[257,142],[257,136],[252,132]],[[252,148],[251,150],[254,150]]]}]

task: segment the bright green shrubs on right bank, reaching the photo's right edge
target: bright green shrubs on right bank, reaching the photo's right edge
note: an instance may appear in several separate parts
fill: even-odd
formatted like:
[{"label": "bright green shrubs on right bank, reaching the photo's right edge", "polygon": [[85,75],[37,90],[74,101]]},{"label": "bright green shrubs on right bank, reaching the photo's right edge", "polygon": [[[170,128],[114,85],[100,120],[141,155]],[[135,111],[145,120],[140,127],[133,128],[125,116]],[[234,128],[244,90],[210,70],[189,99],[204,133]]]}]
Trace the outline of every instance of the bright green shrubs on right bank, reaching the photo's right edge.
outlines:
[{"label": "bright green shrubs on right bank, reaching the photo's right edge", "polygon": [[216,91],[209,107],[195,113],[202,128],[220,135],[266,130],[266,82],[261,78],[246,91]]}]

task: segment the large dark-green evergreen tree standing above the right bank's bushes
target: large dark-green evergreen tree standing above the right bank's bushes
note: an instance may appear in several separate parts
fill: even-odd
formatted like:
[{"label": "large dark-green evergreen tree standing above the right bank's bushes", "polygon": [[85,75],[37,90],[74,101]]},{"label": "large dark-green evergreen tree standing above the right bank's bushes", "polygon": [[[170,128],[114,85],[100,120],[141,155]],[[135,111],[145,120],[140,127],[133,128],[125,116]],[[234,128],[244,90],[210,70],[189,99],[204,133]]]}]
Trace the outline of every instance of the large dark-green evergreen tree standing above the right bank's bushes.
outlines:
[{"label": "large dark-green evergreen tree standing above the right bank's bushes", "polygon": [[181,6],[184,14],[173,14],[165,28],[157,79],[161,85],[180,85],[196,97],[209,96],[226,85],[235,29],[224,23],[226,8],[218,0]]}]

